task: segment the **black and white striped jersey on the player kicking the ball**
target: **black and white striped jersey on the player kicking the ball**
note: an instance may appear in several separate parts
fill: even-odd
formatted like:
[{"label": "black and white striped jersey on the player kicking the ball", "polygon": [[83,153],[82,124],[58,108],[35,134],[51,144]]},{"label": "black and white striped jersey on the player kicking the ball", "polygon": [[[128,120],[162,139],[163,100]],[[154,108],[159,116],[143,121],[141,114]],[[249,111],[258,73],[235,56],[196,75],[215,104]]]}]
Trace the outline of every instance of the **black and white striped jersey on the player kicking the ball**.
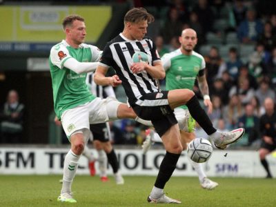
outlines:
[{"label": "black and white striped jersey on the player kicking the ball", "polygon": [[160,61],[155,44],[150,38],[144,37],[141,41],[132,41],[126,39],[123,34],[119,34],[115,39],[107,43],[99,63],[103,67],[109,68],[112,66],[115,69],[122,81],[130,106],[146,93],[161,91],[157,81],[146,71],[133,74],[130,70],[130,66],[133,63],[132,56],[135,52],[146,53],[150,65],[155,61]]}]

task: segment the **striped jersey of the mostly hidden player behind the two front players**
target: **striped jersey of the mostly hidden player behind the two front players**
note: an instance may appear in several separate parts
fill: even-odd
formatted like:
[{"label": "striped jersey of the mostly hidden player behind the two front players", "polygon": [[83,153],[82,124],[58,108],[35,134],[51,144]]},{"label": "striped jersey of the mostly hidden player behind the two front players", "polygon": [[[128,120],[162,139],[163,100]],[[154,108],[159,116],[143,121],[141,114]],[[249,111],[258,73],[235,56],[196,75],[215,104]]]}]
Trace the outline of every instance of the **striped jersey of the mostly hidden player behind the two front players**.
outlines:
[{"label": "striped jersey of the mostly hidden player behind the two front players", "polygon": [[115,97],[115,92],[112,86],[99,86],[94,81],[94,72],[88,72],[86,77],[86,85],[90,89],[92,95],[104,99],[106,97]]}]

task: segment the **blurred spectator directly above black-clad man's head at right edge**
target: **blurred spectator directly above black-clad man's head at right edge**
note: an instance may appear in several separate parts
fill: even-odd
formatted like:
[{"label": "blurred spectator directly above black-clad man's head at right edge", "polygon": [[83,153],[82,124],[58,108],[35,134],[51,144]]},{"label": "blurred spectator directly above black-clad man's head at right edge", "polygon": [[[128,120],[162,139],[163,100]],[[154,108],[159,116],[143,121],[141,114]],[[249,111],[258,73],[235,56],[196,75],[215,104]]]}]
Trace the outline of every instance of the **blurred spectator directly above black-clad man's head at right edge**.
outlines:
[{"label": "blurred spectator directly above black-clad man's head at right edge", "polygon": [[263,79],[259,85],[259,88],[255,92],[257,99],[259,99],[260,103],[264,101],[264,99],[270,97],[275,101],[275,91],[269,87],[268,79]]}]

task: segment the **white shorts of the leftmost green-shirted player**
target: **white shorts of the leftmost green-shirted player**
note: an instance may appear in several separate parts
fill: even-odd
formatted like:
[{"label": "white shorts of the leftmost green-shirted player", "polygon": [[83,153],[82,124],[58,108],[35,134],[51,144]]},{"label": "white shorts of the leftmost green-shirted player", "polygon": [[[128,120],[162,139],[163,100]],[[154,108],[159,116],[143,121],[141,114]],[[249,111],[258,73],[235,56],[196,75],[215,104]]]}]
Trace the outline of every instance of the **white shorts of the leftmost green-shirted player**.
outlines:
[{"label": "white shorts of the leftmost green-shirted player", "polygon": [[113,97],[96,98],[88,103],[64,111],[61,115],[61,123],[66,136],[70,139],[72,133],[81,130],[87,142],[90,137],[90,124],[118,119],[117,109],[120,104],[121,102]]}]

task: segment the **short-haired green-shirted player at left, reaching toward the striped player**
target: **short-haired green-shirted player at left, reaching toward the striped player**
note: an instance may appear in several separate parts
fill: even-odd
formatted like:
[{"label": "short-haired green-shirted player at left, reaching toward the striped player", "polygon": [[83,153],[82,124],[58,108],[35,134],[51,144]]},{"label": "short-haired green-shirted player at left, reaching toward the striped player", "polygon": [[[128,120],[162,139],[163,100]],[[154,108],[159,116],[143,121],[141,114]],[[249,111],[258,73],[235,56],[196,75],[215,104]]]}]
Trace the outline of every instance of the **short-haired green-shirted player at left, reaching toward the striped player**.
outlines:
[{"label": "short-haired green-shirted player at left, reaching toward the striped player", "polygon": [[[52,47],[49,57],[55,113],[61,119],[71,144],[64,160],[63,184],[57,200],[76,203],[71,185],[90,136],[90,124],[122,118],[135,119],[137,115],[126,103],[111,97],[95,97],[88,90],[86,73],[95,71],[101,51],[83,43],[86,37],[84,19],[78,15],[66,17],[63,19],[63,31],[66,39]],[[118,79],[117,75],[109,77],[110,83]]]}]

